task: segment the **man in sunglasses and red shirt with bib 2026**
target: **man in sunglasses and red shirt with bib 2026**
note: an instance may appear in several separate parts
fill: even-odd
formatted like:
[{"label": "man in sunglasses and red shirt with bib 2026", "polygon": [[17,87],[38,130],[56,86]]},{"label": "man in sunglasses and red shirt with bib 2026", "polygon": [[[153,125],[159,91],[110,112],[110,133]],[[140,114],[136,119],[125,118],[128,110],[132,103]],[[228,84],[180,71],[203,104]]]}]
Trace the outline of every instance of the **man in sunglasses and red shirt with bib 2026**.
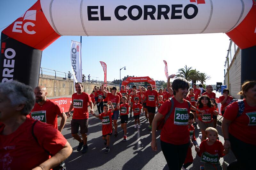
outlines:
[{"label": "man in sunglasses and red shirt with bib 2026", "polygon": [[145,99],[143,102],[147,101],[147,108],[148,108],[148,119],[149,119],[149,126],[148,130],[152,130],[152,121],[155,117],[156,113],[156,104],[159,105],[158,100],[158,92],[153,90],[152,85],[148,84],[149,90],[145,93]]}]

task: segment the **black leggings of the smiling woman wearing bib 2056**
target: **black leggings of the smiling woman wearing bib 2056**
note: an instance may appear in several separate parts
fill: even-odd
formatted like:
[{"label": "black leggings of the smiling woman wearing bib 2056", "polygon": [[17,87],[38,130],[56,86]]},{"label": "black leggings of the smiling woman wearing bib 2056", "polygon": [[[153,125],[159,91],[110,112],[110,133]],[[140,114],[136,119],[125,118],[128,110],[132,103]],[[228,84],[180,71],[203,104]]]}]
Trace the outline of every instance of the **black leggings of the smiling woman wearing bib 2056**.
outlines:
[{"label": "black leggings of the smiling woman wearing bib 2056", "polygon": [[169,169],[180,170],[188,152],[189,143],[184,145],[173,145],[161,140],[161,148]]}]

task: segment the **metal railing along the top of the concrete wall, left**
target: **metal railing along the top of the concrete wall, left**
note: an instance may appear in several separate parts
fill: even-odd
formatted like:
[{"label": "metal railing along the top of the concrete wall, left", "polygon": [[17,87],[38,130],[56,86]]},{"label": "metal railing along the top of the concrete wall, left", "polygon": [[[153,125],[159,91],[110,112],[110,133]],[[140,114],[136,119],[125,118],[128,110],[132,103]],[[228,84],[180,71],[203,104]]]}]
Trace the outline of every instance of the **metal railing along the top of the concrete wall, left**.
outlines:
[{"label": "metal railing along the top of the concrete wall, left", "polygon": [[[53,70],[53,69],[49,69],[49,68],[44,68],[44,67],[40,67],[40,72],[41,72],[40,73],[41,77],[43,77],[44,75],[48,75],[48,76],[53,76],[55,79],[59,78],[59,79],[67,80],[67,74],[68,73],[65,73],[65,72],[61,72],[61,71],[57,71],[57,70]],[[71,75],[71,77],[72,76],[73,76],[73,74]],[[104,83],[104,81],[97,80],[99,77],[93,77],[93,78],[96,78],[96,80],[92,79],[92,77],[93,76],[90,77],[90,81],[88,81],[88,78],[86,77],[86,81],[85,82],[90,82],[90,83],[95,83],[95,84],[102,84],[102,83]],[[114,84],[114,83],[110,83],[110,82],[108,82],[108,85],[119,87],[118,84]]]}]

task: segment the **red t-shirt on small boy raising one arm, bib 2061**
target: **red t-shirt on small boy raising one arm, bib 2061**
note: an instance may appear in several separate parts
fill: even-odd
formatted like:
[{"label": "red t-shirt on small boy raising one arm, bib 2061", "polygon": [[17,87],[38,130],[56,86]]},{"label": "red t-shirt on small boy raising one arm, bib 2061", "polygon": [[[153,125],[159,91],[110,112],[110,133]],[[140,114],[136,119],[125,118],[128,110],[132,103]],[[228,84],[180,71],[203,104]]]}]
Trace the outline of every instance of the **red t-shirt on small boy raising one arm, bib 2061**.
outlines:
[{"label": "red t-shirt on small boy raising one arm, bib 2061", "polygon": [[107,113],[103,112],[100,114],[100,119],[102,120],[102,135],[107,135],[112,133],[112,116],[111,110]]}]

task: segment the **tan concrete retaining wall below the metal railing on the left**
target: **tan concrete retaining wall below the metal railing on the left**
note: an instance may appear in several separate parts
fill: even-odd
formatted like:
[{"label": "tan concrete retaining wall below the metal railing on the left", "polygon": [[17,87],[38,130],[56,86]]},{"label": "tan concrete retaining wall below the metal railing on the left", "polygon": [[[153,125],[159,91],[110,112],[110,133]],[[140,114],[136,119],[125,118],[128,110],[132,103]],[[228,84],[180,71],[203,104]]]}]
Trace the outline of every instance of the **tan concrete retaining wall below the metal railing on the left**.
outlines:
[{"label": "tan concrete retaining wall below the metal railing on the left", "polygon": [[[71,96],[74,92],[74,82],[61,79],[53,79],[49,77],[39,77],[38,85],[45,86],[47,89],[47,97]],[[101,86],[101,83],[83,83],[84,92],[91,94],[94,86]],[[112,86],[107,86],[108,89]],[[118,85],[116,88],[119,88]]]}]

